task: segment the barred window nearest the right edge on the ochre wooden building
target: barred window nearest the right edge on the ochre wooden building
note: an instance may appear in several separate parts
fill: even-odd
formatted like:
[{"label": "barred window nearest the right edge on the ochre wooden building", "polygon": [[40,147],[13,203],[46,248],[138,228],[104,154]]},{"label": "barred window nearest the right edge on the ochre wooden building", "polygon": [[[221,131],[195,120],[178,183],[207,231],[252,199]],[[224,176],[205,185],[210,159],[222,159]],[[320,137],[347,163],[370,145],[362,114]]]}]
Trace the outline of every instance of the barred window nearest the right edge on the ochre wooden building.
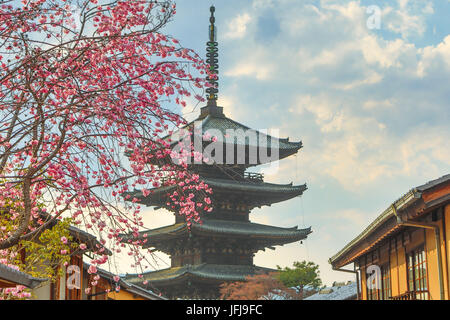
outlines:
[{"label": "barred window nearest the right edge on the ochre wooden building", "polygon": [[414,293],[417,300],[428,300],[427,259],[424,246],[420,246],[406,255],[408,268],[408,291]]}]

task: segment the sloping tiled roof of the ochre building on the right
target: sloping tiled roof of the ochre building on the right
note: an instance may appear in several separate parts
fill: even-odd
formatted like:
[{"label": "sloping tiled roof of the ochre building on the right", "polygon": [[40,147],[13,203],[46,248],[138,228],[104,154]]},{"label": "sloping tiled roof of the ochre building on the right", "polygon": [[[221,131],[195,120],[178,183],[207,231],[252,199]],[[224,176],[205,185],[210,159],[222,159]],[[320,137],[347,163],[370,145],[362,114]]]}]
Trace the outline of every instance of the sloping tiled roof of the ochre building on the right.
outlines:
[{"label": "sloping tiled roof of the ochre building on the right", "polygon": [[[329,262],[333,265],[343,266],[345,264],[350,263],[346,259],[345,264],[337,263],[339,260],[342,260],[344,256],[346,256],[351,250],[356,248],[358,245],[362,244],[367,237],[372,234],[375,230],[378,230],[380,227],[385,225],[389,220],[393,220],[395,218],[395,211],[404,210],[405,208],[411,206],[413,203],[417,202],[422,198],[422,194],[426,191],[429,191],[443,183],[450,182],[450,174],[444,175],[438,179],[427,182],[426,184],[420,185],[418,187],[412,188],[410,191],[405,193],[401,198],[394,201],[381,215],[379,215],[363,232],[361,232],[356,238],[350,241],[344,248],[342,248],[338,253],[336,253],[333,257],[329,259]],[[449,200],[449,195],[446,195],[443,200]],[[441,199],[441,200],[442,200]],[[438,199],[439,200],[439,199]],[[394,209],[395,207],[395,209]],[[400,228],[399,225],[394,225],[387,233],[385,233],[384,237],[388,236],[392,232],[398,230]],[[372,244],[373,245],[373,244]]]}]

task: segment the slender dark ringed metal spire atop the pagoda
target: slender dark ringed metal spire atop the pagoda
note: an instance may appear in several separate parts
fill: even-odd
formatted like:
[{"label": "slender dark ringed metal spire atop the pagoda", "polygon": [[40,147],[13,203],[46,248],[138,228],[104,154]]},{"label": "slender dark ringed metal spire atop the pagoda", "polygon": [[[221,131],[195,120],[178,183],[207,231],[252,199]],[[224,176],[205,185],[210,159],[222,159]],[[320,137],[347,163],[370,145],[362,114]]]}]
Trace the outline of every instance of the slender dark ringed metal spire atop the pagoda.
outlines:
[{"label": "slender dark ringed metal spire atop the pagoda", "polygon": [[216,19],[214,18],[214,11],[215,11],[215,7],[211,6],[209,8],[209,11],[211,11],[211,17],[209,18],[209,21],[211,22],[211,24],[209,25],[209,41],[206,43],[207,47],[206,47],[206,62],[209,65],[209,71],[211,74],[216,75],[215,77],[210,77],[208,76],[206,78],[206,80],[208,80],[208,82],[211,84],[211,87],[206,89],[206,92],[208,93],[208,105],[209,106],[216,106],[217,105],[217,94],[219,93],[218,87],[219,84],[217,82],[217,80],[219,80],[219,78],[217,77],[217,74],[219,73],[219,65],[218,62],[219,60],[217,59],[217,57],[219,56],[218,54],[218,43],[217,43],[217,29],[216,26],[214,25],[214,22],[216,21]]}]

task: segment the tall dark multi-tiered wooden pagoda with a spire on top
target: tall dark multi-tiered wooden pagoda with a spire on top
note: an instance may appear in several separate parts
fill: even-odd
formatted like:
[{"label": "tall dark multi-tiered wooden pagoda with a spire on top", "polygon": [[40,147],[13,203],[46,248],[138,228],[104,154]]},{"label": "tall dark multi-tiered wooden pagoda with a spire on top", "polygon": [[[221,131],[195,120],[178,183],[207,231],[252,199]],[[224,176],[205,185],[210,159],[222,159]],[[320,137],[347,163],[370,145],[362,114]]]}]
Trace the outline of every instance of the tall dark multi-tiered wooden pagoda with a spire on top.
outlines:
[{"label": "tall dark multi-tiered wooden pagoda with a spire on top", "polygon": [[[214,25],[214,6],[210,8],[209,41],[207,42],[207,62],[211,73],[218,73],[218,53],[216,27]],[[201,215],[201,223],[187,223],[184,216],[174,212],[175,224],[162,228],[142,231],[138,237],[123,235],[122,242],[146,240],[143,248],[150,248],[168,254],[171,267],[163,270],[137,274],[127,274],[125,280],[136,285],[159,290],[171,299],[217,299],[220,285],[228,281],[243,281],[247,276],[273,269],[258,267],[253,264],[254,255],[266,248],[274,249],[305,239],[311,228],[281,228],[250,222],[250,211],[255,207],[270,206],[302,195],[307,189],[304,185],[273,184],[263,180],[259,173],[246,170],[252,166],[272,161],[257,157],[250,161],[249,154],[258,151],[261,141],[271,146],[271,153],[276,152],[277,160],[298,152],[301,142],[290,142],[289,138],[279,139],[250,129],[225,116],[223,108],[217,106],[217,77],[208,77],[211,86],[207,89],[208,102],[201,108],[200,116],[189,123],[201,124],[201,135],[214,129],[226,135],[227,130],[245,132],[246,137],[236,137],[232,145],[225,146],[224,152],[245,150],[243,160],[236,163],[192,164],[189,169],[199,174],[200,179],[211,187],[213,210]],[[242,131],[240,131],[242,130]],[[256,136],[255,144],[249,136]],[[234,159],[238,160],[238,152]],[[259,153],[258,153],[259,154]],[[162,186],[152,189],[144,196],[141,191],[132,192],[138,202],[156,208],[168,206],[168,195],[174,186]],[[146,285],[143,284],[144,281]]]}]

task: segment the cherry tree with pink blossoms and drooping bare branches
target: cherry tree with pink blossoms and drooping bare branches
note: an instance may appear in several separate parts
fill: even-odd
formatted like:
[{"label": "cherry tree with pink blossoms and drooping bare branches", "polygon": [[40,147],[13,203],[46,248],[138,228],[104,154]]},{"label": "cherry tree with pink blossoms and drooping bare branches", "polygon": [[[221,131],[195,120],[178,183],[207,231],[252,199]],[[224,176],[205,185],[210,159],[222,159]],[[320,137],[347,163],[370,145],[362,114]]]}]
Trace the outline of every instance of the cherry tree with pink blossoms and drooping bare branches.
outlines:
[{"label": "cherry tree with pink blossoms and drooping bare branches", "polygon": [[15,203],[0,249],[67,216],[119,252],[119,234],[143,226],[134,188],[175,185],[167,205],[188,221],[211,210],[211,190],[167,161],[162,138],[185,123],[178,105],[203,100],[208,72],[163,33],[175,12],[172,1],[0,2],[0,208]]}]

